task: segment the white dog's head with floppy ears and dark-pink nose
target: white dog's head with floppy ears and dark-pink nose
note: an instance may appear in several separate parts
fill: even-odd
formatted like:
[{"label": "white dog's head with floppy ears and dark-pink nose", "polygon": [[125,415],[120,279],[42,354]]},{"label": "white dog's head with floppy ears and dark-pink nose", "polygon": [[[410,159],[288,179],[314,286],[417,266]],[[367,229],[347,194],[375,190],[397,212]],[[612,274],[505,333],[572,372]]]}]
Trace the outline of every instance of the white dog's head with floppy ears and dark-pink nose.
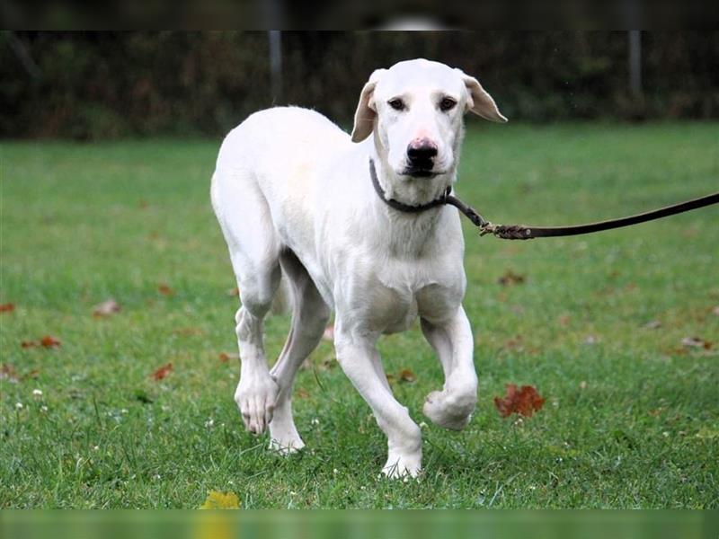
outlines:
[{"label": "white dog's head with floppy ears and dark-pink nose", "polygon": [[402,179],[453,177],[467,111],[507,121],[474,77],[425,59],[400,62],[362,88],[352,141],[374,132],[377,153]]}]

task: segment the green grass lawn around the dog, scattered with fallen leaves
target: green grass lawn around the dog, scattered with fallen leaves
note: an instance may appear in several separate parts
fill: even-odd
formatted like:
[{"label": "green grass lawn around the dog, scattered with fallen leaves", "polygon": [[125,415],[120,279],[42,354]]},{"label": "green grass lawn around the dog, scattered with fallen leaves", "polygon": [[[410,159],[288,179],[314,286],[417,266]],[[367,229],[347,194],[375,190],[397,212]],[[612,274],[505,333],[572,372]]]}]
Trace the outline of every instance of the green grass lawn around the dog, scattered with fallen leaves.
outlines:
[{"label": "green grass lawn around the dog, scattered with fallen leaves", "polygon": [[[195,508],[222,490],[244,508],[719,508],[717,208],[528,243],[467,225],[475,418],[422,427],[422,480],[389,482],[386,438],[329,342],[298,376],[306,450],[280,458],[242,429],[238,366],[218,359],[237,307],[209,205],[218,146],[0,146],[0,301],[16,305],[0,352],[21,377],[0,382],[0,507]],[[457,190],[495,222],[573,224],[716,190],[717,155],[712,123],[473,123]],[[503,287],[507,270],[526,281]],[[93,318],[109,297],[122,311]],[[268,320],[270,358],[287,331],[288,316]],[[62,346],[21,348],[46,334]],[[712,348],[682,346],[691,336]],[[430,347],[416,327],[379,346],[388,373],[416,373],[393,387],[422,421],[441,384]],[[503,420],[508,383],[535,385],[544,409]]]}]

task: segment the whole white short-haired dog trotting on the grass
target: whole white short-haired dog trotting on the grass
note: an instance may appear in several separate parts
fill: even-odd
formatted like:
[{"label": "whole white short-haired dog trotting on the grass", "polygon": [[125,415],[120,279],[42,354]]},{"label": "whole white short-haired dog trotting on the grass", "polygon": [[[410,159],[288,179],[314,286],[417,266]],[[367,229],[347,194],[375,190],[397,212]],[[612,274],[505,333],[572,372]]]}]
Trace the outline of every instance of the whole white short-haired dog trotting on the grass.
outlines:
[{"label": "whole white short-haired dog trotting on the grass", "polygon": [[[475,78],[416,59],[369,77],[351,137],[313,110],[286,107],[257,112],[227,135],[211,198],[242,299],[235,401],[247,429],[269,427],[271,447],[305,445],[292,419],[292,384],[331,310],[337,360],[388,438],[384,473],[419,473],[422,435],[387,384],[375,348],[382,333],[404,331],[419,316],[445,376],[423,412],[448,429],[470,420],[477,376],[457,208],[405,213],[381,199],[418,206],[442,196],[456,179],[467,110],[506,121]],[[269,369],[262,319],[281,274],[292,290],[292,327]]]}]

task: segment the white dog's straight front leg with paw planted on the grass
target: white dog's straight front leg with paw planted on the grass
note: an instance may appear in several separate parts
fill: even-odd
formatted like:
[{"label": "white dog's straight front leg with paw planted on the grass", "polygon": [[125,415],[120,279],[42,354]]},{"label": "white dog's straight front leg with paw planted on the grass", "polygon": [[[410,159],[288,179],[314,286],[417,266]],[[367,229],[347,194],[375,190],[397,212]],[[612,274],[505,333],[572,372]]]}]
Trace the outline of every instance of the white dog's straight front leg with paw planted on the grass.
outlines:
[{"label": "white dog's straight front leg with paw planted on the grass", "polygon": [[377,425],[387,437],[389,452],[382,473],[391,478],[414,477],[422,468],[422,433],[407,409],[395,400],[375,348],[376,342],[377,335],[342,331],[342,325],[335,324],[337,360],[369,404]]}]

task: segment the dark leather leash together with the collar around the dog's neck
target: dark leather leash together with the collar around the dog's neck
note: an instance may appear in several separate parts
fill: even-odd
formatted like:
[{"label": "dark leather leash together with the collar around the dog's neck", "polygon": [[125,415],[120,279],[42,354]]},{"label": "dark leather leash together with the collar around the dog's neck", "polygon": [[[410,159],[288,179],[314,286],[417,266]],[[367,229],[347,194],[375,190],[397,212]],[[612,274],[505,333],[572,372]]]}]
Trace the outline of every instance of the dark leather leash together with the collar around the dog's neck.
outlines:
[{"label": "dark leather leash together with the collar around the dog's neck", "polygon": [[679,204],[673,204],[665,208],[654,209],[635,216],[619,217],[618,219],[609,219],[607,221],[598,221],[596,223],[587,223],[585,225],[494,225],[490,221],[487,221],[483,216],[479,215],[475,208],[467,206],[460,199],[457,199],[457,197],[452,195],[451,187],[448,187],[439,199],[434,199],[427,204],[411,206],[409,204],[404,204],[399,200],[386,198],[385,191],[382,189],[382,186],[379,185],[379,181],[377,180],[375,162],[371,158],[369,159],[369,175],[372,177],[372,185],[374,186],[375,191],[377,191],[377,195],[390,208],[395,208],[396,210],[404,211],[405,213],[419,213],[430,208],[437,208],[438,206],[448,204],[449,206],[457,208],[470,221],[472,221],[472,223],[479,228],[479,235],[484,236],[486,234],[493,234],[502,240],[532,240],[534,238],[590,234],[592,232],[601,232],[602,230],[611,230],[612,228],[621,228],[622,226],[636,225],[638,223],[660,219],[661,217],[673,216],[692,209],[704,208],[706,206],[719,203],[719,192],[715,192],[711,195],[706,195],[705,197],[687,200],[686,202],[680,202]]}]

